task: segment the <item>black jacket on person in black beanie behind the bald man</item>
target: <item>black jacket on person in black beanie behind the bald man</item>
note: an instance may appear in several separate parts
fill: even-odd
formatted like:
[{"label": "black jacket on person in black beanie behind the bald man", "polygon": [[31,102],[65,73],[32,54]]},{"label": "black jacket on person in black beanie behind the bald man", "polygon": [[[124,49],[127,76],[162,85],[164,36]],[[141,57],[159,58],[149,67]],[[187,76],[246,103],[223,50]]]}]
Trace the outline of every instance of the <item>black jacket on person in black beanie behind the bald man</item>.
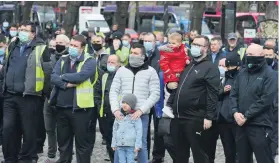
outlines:
[{"label": "black jacket on person in black beanie behind the bald man", "polygon": [[234,76],[230,76],[230,75],[226,74],[224,83],[220,84],[219,104],[218,104],[218,108],[217,108],[217,120],[219,123],[234,122],[230,104],[229,104],[230,91],[224,92],[224,87],[226,85],[233,86],[233,83],[234,83],[234,80],[235,80],[237,74],[234,74]]}]

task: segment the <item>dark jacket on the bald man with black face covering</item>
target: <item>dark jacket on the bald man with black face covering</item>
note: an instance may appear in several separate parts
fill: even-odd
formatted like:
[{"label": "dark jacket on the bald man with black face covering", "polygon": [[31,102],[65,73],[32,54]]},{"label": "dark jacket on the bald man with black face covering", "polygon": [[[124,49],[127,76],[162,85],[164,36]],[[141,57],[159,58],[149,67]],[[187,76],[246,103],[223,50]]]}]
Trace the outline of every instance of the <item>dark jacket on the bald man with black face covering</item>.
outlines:
[{"label": "dark jacket on the bald man with black face covering", "polygon": [[243,68],[230,93],[232,115],[242,113],[247,118],[246,125],[272,127],[271,108],[277,92],[276,85],[276,75],[266,63],[253,73]]}]

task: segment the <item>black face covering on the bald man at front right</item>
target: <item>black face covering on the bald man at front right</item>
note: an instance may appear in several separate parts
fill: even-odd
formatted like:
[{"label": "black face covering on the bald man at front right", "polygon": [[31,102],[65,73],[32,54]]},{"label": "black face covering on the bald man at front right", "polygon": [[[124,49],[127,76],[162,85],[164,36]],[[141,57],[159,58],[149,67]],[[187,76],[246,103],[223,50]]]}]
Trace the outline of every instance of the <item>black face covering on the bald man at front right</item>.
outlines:
[{"label": "black face covering on the bald man at front right", "polygon": [[264,56],[246,56],[246,64],[249,72],[260,69],[264,63]]}]

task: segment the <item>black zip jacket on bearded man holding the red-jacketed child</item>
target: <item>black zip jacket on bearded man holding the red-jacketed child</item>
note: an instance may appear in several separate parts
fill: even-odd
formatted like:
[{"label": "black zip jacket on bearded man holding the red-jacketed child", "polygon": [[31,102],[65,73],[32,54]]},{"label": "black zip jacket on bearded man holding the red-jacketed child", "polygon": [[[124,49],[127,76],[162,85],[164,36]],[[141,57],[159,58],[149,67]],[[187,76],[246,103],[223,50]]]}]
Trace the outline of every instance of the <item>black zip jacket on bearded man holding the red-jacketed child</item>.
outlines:
[{"label": "black zip jacket on bearded man holding the red-jacketed child", "polygon": [[192,61],[180,76],[173,105],[174,116],[214,120],[219,85],[219,70],[208,57],[200,62]]}]

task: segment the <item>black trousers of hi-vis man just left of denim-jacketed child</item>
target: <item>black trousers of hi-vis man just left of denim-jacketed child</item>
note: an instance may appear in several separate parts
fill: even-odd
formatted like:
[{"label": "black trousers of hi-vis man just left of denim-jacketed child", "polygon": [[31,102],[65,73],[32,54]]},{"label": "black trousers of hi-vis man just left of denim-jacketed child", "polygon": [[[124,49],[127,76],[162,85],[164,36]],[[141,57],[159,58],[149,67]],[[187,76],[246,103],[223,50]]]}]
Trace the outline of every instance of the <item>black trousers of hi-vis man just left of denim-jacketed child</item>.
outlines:
[{"label": "black trousers of hi-vis man just left of denim-jacketed child", "polygon": [[109,154],[109,159],[111,163],[114,161],[114,151],[111,148],[111,142],[112,142],[112,128],[114,123],[115,117],[112,115],[112,113],[106,113],[104,114],[104,136],[106,140],[106,148]]}]

